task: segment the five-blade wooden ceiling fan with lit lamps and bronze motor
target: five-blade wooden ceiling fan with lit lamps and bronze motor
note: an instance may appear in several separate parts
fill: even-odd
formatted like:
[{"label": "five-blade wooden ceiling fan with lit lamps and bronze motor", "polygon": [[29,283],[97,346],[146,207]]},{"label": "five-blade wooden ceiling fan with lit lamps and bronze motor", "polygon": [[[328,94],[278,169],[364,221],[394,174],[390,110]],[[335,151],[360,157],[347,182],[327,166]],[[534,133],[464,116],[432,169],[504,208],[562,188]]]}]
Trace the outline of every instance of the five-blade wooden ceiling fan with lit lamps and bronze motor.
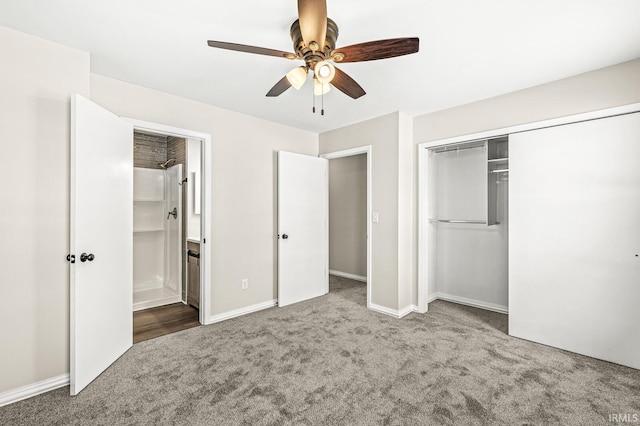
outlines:
[{"label": "five-blade wooden ceiling fan with lit lamps and bronze motor", "polygon": [[358,99],[366,92],[332,62],[362,62],[393,58],[416,53],[419,48],[417,37],[369,41],[336,48],[338,26],[333,20],[327,18],[326,0],[298,0],[298,18],[291,25],[290,31],[295,53],[223,41],[209,40],[208,44],[219,49],[304,61],[304,65],[294,68],[278,81],[269,90],[267,96],[279,96],[291,86],[299,89],[307,79],[309,70],[312,70],[316,95],[329,91],[329,84],[331,84],[353,99]]}]

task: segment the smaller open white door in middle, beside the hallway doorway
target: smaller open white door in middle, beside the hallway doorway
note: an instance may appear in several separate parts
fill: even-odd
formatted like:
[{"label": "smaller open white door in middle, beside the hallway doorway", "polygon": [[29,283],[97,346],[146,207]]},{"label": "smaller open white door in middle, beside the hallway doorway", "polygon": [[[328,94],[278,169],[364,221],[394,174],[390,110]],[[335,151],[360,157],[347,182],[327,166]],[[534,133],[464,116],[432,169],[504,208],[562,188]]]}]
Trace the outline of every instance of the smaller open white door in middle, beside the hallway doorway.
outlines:
[{"label": "smaller open white door in middle, beside the hallway doorway", "polygon": [[278,152],[278,306],[329,292],[328,160]]}]

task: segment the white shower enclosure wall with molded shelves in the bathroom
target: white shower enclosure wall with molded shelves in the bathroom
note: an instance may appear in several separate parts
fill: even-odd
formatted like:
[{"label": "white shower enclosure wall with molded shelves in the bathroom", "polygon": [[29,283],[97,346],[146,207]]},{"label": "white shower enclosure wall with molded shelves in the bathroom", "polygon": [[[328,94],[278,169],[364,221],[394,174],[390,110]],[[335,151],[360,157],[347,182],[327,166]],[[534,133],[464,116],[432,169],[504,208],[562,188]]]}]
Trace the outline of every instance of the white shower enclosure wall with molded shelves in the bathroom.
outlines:
[{"label": "white shower enclosure wall with molded shelves in the bathroom", "polygon": [[182,300],[182,164],[133,171],[133,310]]}]

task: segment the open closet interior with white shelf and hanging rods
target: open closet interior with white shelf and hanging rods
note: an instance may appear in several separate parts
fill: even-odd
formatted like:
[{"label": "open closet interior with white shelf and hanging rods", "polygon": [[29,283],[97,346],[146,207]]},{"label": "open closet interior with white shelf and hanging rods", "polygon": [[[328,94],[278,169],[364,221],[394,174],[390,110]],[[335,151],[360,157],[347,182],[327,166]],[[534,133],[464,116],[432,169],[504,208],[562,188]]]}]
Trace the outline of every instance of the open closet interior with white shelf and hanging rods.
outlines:
[{"label": "open closet interior with white shelf and hanging rods", "polygon": [[508,137],[430,148],[427,170],[430,298],[507,312]]}]

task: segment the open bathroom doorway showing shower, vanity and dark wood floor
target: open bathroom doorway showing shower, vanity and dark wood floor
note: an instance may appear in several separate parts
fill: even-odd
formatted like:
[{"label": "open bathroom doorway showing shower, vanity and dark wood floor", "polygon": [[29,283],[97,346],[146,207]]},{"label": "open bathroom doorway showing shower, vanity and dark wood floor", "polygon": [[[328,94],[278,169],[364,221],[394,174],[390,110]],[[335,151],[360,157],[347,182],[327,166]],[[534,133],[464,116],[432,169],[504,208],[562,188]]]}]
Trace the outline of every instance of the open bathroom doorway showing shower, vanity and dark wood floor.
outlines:
[{"label": "open bathroom doorway showing shower, vanity and dark wood floor", "polygon": [[153,127],[134,123],[134,343],[204,324],[208,307],[206,140]]}]

